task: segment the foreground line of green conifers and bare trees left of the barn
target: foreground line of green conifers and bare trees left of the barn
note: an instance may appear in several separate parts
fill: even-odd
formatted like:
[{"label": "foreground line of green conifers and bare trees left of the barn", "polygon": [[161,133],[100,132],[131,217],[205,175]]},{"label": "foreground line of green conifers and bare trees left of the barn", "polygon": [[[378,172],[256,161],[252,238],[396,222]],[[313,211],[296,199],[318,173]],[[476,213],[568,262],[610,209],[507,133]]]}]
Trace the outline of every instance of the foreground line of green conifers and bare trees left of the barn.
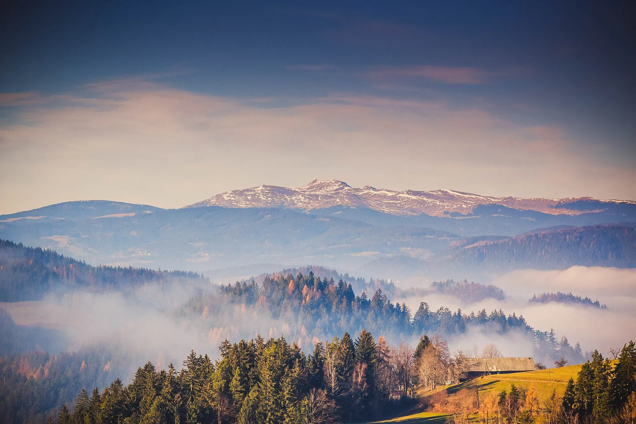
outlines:
[{"label": "foreground line of green conifers and bare trees left of the barn", "polygon": [[283,336],[219,349],[216,361],[192,351],[181,371],[148,362],[129,385],[82,390],[57,423],[335,423],[379,416],[412,394],[413,349],[365,330],[318,342],[310,355]]}]

